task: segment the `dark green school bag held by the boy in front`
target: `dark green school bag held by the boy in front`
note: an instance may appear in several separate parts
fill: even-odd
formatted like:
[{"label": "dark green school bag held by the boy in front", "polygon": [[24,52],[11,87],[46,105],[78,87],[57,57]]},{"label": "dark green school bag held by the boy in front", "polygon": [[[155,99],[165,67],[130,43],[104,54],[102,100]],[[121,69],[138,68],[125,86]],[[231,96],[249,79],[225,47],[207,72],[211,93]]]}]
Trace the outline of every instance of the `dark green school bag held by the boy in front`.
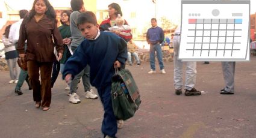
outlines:
[{"label": "dark green school bag held by the boy in front", "polygon": [[140,93],[139,89],[127,69],[116,69],[111,83],[111,99],[114,115],[116,119],[126,120],[134,116],[139,109]]}]

